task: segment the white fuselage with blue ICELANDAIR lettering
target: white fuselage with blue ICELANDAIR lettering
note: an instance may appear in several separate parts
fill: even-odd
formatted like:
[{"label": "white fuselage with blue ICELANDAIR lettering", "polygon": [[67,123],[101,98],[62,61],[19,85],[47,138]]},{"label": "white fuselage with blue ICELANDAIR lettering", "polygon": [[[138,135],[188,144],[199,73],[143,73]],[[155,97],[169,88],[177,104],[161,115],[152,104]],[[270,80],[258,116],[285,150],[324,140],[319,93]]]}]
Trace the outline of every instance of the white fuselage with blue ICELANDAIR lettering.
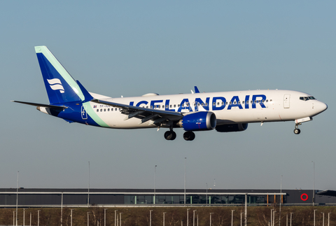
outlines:
[{"label": "white fuselage with blue ICELANDAIR lettering", "polygon": [[[209,92],[195,94],[150,95],[143,97],[109,98],[111,101],[163,111],[189,114],[211,111],[216,114],[217,125],[249,122],[276,122],[298,120],[305,122],[325,111],[326,104],[310,94],[291,90],[246,90],[235,92]],[[156,127],[151,121],[140,123],[138,118],[124,120],[118,108],[90,102],[94,113],[106,123],[105,127],[136,129]]]}]

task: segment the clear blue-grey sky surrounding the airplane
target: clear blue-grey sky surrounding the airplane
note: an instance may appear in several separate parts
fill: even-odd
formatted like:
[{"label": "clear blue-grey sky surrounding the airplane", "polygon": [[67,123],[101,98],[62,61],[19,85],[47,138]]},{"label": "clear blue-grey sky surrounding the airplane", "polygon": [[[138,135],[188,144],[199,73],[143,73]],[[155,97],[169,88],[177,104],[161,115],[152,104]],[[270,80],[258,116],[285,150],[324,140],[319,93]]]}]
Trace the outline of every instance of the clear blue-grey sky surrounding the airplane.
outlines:
[{"label": "clear blue-grey sky surrounding the airplane", "polygon": [[[335,1],[2,1],[0,188],[336,189]],[[90,92],[133,97],[284,89],[328,110],[245,132],[69,124],[10,100],[48,104],[35,45],[47,45]]]}]

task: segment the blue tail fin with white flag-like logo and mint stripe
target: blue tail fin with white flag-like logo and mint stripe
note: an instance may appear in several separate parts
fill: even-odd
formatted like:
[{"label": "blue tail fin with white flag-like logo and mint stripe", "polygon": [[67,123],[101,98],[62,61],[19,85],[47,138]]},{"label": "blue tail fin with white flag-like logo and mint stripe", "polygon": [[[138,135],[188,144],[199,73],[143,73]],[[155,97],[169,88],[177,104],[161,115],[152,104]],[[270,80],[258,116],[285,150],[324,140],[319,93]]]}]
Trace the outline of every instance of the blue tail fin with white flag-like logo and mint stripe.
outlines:
[{"label": "blue tail fin with white flag-like logo and mint stripe", "polygon": [[[50,104],[85,101],[85,96],[68,71],[45,46],[35,46]],[[86,91],[86,90],[85,90]]]}]

